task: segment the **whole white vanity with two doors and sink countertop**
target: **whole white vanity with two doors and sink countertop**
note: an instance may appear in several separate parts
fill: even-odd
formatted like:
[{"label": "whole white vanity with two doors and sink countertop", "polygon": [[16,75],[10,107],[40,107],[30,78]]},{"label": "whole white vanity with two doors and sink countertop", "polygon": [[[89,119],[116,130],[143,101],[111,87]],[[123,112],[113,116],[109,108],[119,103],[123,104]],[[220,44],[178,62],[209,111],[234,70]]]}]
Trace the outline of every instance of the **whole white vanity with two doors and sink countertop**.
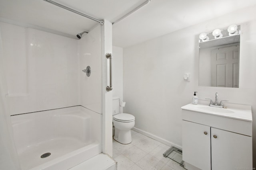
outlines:
[{"label": "whole white vanity with two doors and sink countertop", "polygon": [[[250,107],[226,110],[208,107],[192,104],[182,107],[182,158],[185,168],[252,169]],[[187,163],[192,166],[186,167]]]}]

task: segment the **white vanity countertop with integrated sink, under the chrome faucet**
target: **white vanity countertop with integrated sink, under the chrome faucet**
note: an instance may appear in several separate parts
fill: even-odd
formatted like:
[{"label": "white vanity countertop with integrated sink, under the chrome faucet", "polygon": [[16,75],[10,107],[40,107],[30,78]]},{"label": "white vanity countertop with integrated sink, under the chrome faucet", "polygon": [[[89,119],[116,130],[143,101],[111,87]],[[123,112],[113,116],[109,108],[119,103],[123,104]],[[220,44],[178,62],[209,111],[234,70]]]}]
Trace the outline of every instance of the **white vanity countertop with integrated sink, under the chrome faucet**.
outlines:
[{"label": "white vanity countertop with integrated sink, under the chrome faucet", "polygon": [[240,119],[244,121],[252,121],[252,107],[246,107],[246,109],[244,109],[245,107],[242,107],[242,109],[228,107],[227,109],[224,109],[202,104],[187,104],[181,108],[184,110],[196,111],[210,115]]}]

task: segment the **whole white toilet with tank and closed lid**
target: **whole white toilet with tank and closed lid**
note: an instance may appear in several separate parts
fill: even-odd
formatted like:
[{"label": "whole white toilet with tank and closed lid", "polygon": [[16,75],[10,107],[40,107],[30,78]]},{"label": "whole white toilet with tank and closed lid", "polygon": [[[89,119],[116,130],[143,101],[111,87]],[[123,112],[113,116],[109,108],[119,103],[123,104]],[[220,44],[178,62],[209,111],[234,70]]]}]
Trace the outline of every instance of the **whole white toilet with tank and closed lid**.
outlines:
[{"label": "whole white toilet with tank and closed lid", "polygon": [[128,113],[120,113],[120,98],[113,97],[113,124],[115,128],[114,140],[122,144],[132,142],[131,129],[135,125],[134,115]]}]

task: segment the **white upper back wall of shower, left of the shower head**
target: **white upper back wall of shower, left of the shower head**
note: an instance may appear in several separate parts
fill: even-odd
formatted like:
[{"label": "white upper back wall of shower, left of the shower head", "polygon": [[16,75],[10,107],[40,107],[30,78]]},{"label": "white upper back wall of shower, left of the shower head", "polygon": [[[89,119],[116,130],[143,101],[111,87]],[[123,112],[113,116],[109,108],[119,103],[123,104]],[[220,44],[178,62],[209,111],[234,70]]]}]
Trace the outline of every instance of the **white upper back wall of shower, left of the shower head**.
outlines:
[{"label": "white upper back wall of shower, left of the shower head", "polygon": [[77,40],[0,23],[10,113],[78,105]]}]

